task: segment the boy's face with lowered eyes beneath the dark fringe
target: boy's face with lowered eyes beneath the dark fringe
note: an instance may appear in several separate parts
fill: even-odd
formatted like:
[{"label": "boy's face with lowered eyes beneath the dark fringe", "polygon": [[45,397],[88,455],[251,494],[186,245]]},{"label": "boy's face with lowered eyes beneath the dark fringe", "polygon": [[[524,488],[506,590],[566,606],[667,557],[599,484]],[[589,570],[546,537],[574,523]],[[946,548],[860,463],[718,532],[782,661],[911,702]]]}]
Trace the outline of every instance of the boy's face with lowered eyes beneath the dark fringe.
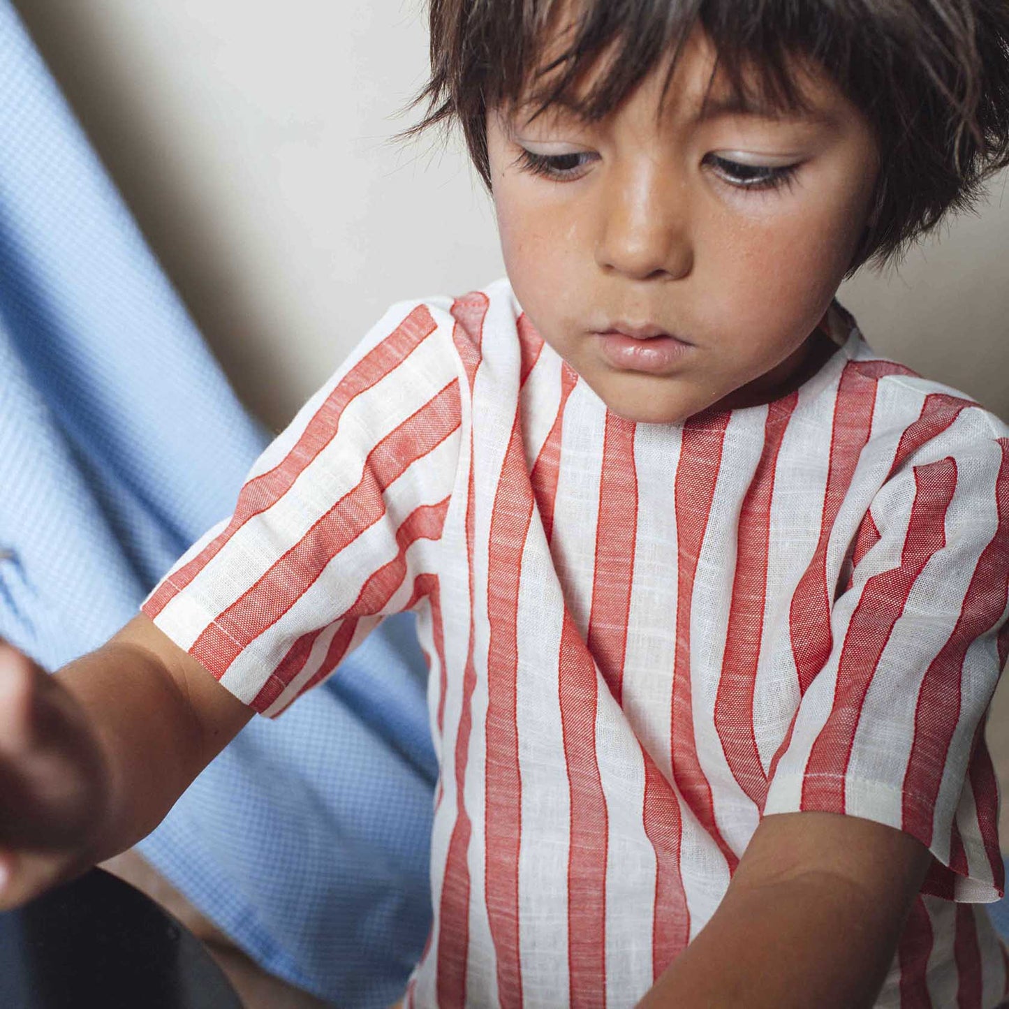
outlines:
[{"label": "boy's face with lowered eyes beneath the dark fringe", "polygon": [[[555,107],[487,116],[519,303],[630,420],[679,423],[793,387],[866,223],[878,156],[858,110],[808,79],[815,118],[698,119],[713,65],[691,36],[661,113],[663,67],[598,123]],[[716,77],[709,108],[727,94]]]}]

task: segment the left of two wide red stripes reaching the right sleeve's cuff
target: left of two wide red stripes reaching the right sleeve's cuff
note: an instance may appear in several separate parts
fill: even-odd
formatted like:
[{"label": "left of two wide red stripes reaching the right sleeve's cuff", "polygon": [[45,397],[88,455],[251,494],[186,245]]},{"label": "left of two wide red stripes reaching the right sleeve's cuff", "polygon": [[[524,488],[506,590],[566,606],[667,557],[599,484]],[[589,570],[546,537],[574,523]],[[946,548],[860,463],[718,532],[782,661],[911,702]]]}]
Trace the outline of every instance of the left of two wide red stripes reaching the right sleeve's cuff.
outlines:
[{"label": "left of two wide red stripes reaching the right sleeve's cuff", "polygon": [[945,546],[945,520],[957,466],[941,459],[914,470],[914,501],[900,566],[866,581],[852,613],[837,667],[833,706],[806,763],[802,806],[846,812],[845,784],[869,686],[911,589],[930,558]]}]

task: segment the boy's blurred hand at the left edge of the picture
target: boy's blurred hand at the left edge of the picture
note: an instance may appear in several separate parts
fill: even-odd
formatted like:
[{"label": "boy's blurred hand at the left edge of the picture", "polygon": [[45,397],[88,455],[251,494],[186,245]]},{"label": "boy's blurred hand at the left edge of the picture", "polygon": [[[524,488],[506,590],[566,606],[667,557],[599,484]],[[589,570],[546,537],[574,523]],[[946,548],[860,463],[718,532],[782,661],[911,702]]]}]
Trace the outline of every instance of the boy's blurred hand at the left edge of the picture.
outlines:
[{"label": "boy's blurred hand at the left edge of the picture", "polygon": [[86,868],[111,787],[74,695],[0,642],[0,910]]}]

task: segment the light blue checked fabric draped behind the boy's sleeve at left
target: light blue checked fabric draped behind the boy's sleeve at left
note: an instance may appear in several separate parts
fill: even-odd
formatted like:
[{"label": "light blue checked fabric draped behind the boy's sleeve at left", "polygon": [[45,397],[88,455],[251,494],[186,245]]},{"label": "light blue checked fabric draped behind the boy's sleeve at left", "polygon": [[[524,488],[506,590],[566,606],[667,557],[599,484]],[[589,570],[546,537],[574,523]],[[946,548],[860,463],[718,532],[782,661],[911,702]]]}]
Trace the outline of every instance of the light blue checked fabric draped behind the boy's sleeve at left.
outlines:
[{"label": "light blue checked fabric draped behind the boy's sleeve at left", "polygon": [[[48,668],[226,516],[264,433],[234,399],[0,0],[0,636]],[[268,970],[402,992],[430,921],[436,767],[412,618],[254,719],[143,844]]]}]

